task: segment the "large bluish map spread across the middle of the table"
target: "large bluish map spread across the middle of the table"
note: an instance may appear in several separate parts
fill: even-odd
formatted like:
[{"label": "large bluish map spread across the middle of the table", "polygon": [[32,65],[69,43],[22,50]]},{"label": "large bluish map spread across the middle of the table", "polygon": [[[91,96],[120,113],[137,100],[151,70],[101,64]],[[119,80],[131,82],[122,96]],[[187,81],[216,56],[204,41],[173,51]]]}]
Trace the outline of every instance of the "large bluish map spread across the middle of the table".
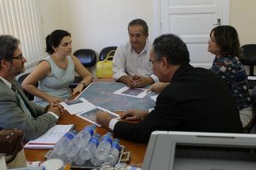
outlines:
[{"label": "large bluish map spread across the middle of the table", "polygon": [[122,82],[92,82],[76,99],[87,99],[93,105],[100,106],[108,111],[148,110],[154,108],[155,102],[150,98],[150,96],[155,95],[154,93],[149,93],[143,99],[113,94],[113,92],[125,86]]}]

